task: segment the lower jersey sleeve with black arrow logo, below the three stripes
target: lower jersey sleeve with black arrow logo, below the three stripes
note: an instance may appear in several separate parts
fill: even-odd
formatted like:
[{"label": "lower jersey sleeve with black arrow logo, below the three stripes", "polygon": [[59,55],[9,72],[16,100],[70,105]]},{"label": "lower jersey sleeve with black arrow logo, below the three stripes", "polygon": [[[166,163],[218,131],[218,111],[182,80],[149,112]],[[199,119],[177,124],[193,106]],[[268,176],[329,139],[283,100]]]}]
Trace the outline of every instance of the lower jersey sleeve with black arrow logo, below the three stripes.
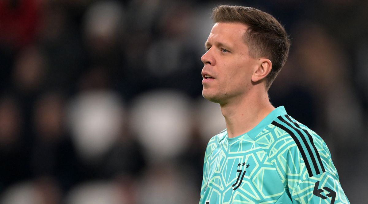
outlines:
[{"label": "lower jersey sleeve with black arrow logo, below the three stripes", "polygon": [[350,204],[338,175],[333,172],[323,172],[300,182],[291,192],[291,200],[294,204]]}]

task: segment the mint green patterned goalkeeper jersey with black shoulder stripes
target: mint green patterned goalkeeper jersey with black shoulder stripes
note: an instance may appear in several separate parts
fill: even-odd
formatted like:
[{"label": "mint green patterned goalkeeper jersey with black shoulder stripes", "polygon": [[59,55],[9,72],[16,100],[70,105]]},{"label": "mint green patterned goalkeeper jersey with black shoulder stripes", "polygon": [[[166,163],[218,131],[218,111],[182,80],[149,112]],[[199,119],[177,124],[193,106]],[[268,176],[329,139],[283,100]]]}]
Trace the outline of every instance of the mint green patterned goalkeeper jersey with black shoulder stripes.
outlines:
[{"label": "mint green patterned goalkeeper jersey with black shoulder stripes", "polygon": [[349,201],[326,143],[281,106],[243,135],[224,130],[210,139],[199,203]]}]

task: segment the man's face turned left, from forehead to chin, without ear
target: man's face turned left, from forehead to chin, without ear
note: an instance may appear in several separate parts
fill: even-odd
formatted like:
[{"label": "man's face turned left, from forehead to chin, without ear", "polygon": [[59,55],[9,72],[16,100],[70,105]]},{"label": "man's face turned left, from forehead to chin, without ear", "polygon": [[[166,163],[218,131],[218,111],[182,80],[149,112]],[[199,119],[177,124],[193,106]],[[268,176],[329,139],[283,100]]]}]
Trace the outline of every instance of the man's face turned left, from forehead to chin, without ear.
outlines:
[{"label": "man's face turned left, from forehead to chin, without ear", "polygon": [[209,101],[226,104],[245,96],[251,88],[251,77],[258,67],[249,56],[242,23],[215,23],[206,41],[208,51],[202,56],[202,95]]}]

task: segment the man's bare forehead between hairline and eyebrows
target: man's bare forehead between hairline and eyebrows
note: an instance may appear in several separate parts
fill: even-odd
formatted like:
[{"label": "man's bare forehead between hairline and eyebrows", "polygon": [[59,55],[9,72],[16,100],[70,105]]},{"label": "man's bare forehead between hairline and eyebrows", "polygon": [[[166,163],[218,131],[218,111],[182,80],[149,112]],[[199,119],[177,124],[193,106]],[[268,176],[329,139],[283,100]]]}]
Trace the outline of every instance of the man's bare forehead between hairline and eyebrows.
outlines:
[{"label": "man's bare forehead between hairline and eyebrows", "polygon": [[217,22],[213,25],[207,41],[212,43],[213,40],[220,40],[233,44],[237,44],[239,41],[244,42],[244,33],[247,29],[248,26],[243,23]]}]

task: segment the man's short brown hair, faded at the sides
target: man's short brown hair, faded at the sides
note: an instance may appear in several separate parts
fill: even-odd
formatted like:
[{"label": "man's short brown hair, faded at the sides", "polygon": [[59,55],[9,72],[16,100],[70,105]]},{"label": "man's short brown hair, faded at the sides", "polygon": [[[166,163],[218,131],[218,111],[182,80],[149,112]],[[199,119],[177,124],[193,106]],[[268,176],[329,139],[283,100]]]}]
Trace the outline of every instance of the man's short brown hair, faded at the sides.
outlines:
[{"label": "man's short brown hair, faded at the sides", "polygon": [[272,62],[266,77],[268,90],[289,55],[290,40],[284,27],[272,15],[252,7],[220,5],[212,11],[213,22],[240,22],[248,26],[245,43],[252,58],[267,57]]}]

